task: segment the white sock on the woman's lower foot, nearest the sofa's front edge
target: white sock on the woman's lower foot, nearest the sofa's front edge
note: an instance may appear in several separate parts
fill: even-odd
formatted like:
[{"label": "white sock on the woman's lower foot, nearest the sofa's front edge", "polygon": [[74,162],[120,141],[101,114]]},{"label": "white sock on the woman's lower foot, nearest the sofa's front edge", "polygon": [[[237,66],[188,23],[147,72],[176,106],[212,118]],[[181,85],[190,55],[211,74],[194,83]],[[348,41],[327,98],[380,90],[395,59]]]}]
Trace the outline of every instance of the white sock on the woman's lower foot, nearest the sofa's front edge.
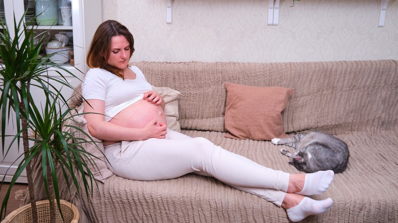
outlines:
[{"label": "white sock on the woman's lower foot, nearest the sofa's front edge", "polygon": [[300,204],[286,210],[287,216],[293,222],[301,221],[309,215],[322,214],[327,212],[333,204],[333,200],[328,198],[322,201],[312,200],[304,197]]}]

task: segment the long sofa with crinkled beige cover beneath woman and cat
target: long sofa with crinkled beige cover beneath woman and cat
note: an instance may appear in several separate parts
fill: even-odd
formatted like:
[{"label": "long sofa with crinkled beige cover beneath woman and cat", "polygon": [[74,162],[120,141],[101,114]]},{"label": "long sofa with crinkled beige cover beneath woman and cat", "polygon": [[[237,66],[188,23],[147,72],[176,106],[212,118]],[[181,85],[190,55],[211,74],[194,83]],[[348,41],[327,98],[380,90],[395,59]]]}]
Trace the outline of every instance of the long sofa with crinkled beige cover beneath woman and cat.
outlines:
[{"label": "long sofa with crinkled beige cover beneath woman and cat", "polygon": [[[153,86],[175,94],[166,102],[173,102],[170,117],[177,130],[269,168],[301,173],[280,152],[293,149],[273,145],[269,137],[324,131],[343,140],[350,150],[347,169],[335,175],[324,194],[310,196],[334,203],[303,222],[398,222],[398,61],[133,65]],[[233,108],[233,89],[226,88],[230,83],[243,87],[234,94],[248,104]],[[251,95],[251,87],[265,93]],[[280,102],[268,98],[274,94],[270,87],[285,90],[282,96],[275,93]],[[71,106],[79,107],[79,94],[72,100]],[[282,105],[268,111],[274,103]],[[238,116],[229,113],[247,119],[235,122],[231,117]],[[277,128],[282,132],[272,133]],[[89,198],[60,185],[63,198],[79,208],[80,222],[289,222],[283,208],[211,177],[135,181],[108,169],[96,174]]]}]

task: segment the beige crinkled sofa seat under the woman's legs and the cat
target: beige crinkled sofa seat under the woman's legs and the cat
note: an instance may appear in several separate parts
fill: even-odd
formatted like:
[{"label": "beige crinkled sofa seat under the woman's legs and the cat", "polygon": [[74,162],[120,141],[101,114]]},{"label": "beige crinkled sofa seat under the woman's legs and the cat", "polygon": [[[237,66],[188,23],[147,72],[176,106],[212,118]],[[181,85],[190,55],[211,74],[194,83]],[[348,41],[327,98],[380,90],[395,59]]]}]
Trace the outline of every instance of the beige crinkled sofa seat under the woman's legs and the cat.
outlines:
[{"label": "beige crinkled sofa seat under the woman's legs and the cat", "polygon": [[[233,140],[211,131],[182,133],[206,137],[269,168],[300,173],[280,153],[282,146],[268,141]],[[335,175],[324,194],[310,196],[316,200],[332,198],[331,210],[309,216],[304,222],[397,221],[398,194],[392,191],[398,188],[398,132],[351,132],[336,136],[350,148],[349,165],[344,173]],[[283,208],[214,178],[194,174],[160,181],[112,176],[93,192],[91,204],[84,194],[80,198],[81,213],[90,222],[289,222]]]}]

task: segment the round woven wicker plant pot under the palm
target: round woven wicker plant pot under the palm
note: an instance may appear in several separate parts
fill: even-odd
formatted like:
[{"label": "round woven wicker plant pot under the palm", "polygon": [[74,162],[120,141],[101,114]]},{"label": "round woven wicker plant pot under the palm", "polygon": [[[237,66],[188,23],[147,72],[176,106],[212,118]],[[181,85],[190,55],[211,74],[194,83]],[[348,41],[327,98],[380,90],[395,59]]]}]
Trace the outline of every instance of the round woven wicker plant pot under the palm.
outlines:
[{"label": "round woven wicker plant pot under the palm", "polygon": [[[78,223],[79,222],[79,210],[76,206],[74,206],[72,203],[67,202],[65,200],[60,200],[60,205],[61,205],[61,211],[64,216],[64,220],[62,221],[61,214],[58,211],[57,208],[57,202],[55,202],[55,222],[71,222],[71,223]],[[49,210],[49,202],[48,200],[46,201],[38,201],[36,202],[37,206],[37,215],[38,215],[38,221],[41,223],[46,223],[50,222],[50,210]],[[4,220],[1,223],[6,223],[6,222],[15,222],[15,223],[20,223],[20,222],[32,222],[32,209],[31,209],[31,204],[22,206],[15,211],[11,212],[9,215],[7,215]]]}]

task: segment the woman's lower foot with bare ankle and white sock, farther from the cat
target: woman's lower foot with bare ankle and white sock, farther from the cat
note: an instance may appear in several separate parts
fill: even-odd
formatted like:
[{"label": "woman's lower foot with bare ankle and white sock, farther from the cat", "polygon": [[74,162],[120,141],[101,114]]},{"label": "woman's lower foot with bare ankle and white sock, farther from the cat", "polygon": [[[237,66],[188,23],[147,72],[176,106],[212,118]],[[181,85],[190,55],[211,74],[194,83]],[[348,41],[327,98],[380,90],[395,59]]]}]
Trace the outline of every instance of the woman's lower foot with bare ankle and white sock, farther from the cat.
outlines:
[{"label": "woman's lower foot with bare ankle and white sock, farther from the cat", "polygon": [[322,214],[327,212],[333,204],[328,198],[316,201],[308,197],[294,193],[286,193],[282,207],[286,209],[287,216],[293,222],[301,221],[309,215]]}]

